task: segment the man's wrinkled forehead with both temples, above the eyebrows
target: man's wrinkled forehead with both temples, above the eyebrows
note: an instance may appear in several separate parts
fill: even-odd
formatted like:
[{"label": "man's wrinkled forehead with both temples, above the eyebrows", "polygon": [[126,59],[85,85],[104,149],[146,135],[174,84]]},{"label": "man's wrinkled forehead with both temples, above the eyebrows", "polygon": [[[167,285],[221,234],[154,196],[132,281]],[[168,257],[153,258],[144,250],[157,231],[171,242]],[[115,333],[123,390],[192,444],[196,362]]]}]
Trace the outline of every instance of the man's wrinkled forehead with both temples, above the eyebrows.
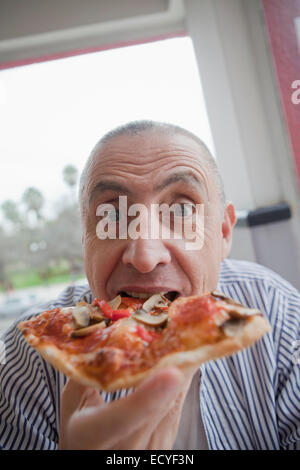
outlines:
[{"label": "man's wrinkled forehead with both temples, above the eyebrows", "polygon": [[[215,178],[209,165],[207,149],[193,138],[181,134],[145,131],[119,135],[94,148],[82,185],[86,202],[101,182],[116,178],[135,185],[150,178],[159,187],[164,178],[199,183],[208,194],[216,191]],[[212,158],[212,157],[210,157]],[[99,186],[100,184],[100,186]]]}]

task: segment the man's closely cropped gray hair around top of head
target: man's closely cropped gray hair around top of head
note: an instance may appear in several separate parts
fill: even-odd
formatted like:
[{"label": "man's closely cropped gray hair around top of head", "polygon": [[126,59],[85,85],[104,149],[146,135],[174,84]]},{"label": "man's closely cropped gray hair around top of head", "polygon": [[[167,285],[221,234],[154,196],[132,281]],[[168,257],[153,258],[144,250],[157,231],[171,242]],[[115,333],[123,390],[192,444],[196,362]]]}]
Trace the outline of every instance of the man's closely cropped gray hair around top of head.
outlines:
[{"label": "man's closely cropped gray hair around top of head", "polygon": [[79,205],[80,205],[80,213],[82,217],[84,215],[84,192],[86,188],[86,180],[88,177],[89,170],[94,161],[94,157],[99,152],[100,148],[103,145],[112,141],[116,137],[119,137],[122,135],[134,136],[134,135],[141,134],[143,132],[160,132],[166,135],[180,134],[180,135],[184,135],[193,139],[202,150],[201,156],[205,159],[212,175],[214,176],[214,179],[215,179],[218,191],[219,191],[221,208],[222,210],[224,210],[225,205],[226,205],[226,197],[225,197],[223,180],[220,175],[219,169],[217,167],[216,161],[214,157],[212,156],[212,154],[210,153],[207,146],[205,145],[205,143],[192,132],[184,129],[183,127],[177,126],[175,124],[159,122],[159,121],[151,121],[151,120],[139,120],[139,121],[130,121],[126,124],[122,124],[121,126],[118,126],[108,131],[106,134],[104,134],[103,137],[101,137],[101,139],[97,142],[97,144],[93,148],[80,177]]}]

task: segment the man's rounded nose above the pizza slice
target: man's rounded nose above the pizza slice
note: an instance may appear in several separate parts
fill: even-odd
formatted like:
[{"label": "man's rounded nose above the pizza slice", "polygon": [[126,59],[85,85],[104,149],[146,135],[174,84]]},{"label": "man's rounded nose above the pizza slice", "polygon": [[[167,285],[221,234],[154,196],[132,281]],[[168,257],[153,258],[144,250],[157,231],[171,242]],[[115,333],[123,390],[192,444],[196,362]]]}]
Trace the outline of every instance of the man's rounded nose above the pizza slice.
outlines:
[{"label": "man's rounded nose above the pizza slice", "polygon": [[166,265],[171,261],[171,254],[163,241],[138,238],[130,240],[122,257],[126,265],[133,266],[141,273],[149,273],[158,265]]}]

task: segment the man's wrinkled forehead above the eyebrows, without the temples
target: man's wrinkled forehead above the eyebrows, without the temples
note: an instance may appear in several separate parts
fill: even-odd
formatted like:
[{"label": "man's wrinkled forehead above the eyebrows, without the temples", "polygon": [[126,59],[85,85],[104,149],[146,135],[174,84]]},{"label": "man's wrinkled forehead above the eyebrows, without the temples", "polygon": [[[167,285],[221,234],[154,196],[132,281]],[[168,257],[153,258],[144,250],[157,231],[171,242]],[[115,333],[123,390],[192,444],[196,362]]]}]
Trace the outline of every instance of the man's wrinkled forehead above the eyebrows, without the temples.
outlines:
[{"label": "man's wrinkled forehead above the eyebrows, without the temples", "polygon": [[[204,149],[189,136],[146,131],[117,136],[96,147],[89,172],[93,181],[89,183],[94,186],[95,180],[105,180],[115,173],[129,179],[150,174],[155,179],[155,191],[177,181],[200,187],[203,167],[207,167]],[[99,187],[106,189],[108,185],[103,181]]]}]

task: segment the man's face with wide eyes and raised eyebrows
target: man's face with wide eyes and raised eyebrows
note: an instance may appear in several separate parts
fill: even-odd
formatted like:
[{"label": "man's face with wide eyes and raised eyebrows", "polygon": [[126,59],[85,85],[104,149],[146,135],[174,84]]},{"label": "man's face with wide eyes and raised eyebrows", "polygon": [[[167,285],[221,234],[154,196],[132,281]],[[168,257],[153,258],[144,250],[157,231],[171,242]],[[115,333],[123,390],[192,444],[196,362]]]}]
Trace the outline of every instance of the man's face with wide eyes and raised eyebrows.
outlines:
[{"label": "man's face with wide eyes and raised eyebrows", "polygon": [[[127,196],[128,207],[140,203],[149,212],[152,204],[204,205],[202,248],[187,250],[186,240],[172,237],[99,239],[97,207],[117,207],[119,196]],[[169,291],[188,296],[216,288],[230,250],[234,208],[224,217],[214,177],[191,138],[144,132],[112,139],[94,157],[84,201],[84,263],[95,297]]]}]

